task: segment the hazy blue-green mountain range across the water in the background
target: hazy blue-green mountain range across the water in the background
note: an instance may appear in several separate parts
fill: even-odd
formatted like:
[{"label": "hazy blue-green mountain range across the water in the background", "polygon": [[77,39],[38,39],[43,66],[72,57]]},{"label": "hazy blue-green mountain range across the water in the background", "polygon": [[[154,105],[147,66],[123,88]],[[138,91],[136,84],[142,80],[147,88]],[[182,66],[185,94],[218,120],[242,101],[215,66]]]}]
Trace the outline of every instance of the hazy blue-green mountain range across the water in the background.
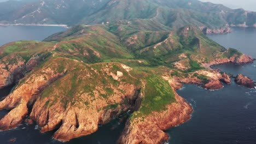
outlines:
[{"label": "hazy blue-green mountain range across the water in the background", "polygon": [[[31,0],[0,3],[0,23],[94,25],[120,20],[150,20],[172,28],[256,26],[256,13],[196,0]],[[214,31],[216,30],[216,31]],[[226,32],[223,29],[221,32]]]}]

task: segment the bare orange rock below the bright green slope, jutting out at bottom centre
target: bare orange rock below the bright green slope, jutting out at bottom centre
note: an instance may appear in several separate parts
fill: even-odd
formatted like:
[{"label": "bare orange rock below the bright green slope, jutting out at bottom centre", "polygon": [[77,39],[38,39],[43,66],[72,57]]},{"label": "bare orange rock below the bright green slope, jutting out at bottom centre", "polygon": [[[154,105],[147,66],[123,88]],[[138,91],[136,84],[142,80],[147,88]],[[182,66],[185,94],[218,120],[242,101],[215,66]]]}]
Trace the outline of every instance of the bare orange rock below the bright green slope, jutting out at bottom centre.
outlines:
[{"label": "bare orange rock below the bright green slope, jutting out at bottom centre", "polygon": [[163,130],[190,119],[192,107],[177,93],[177,103],[168,105],[167,110],[153,112],[143,118],[127,122],[118,143],[164,143],[169,136]]}]

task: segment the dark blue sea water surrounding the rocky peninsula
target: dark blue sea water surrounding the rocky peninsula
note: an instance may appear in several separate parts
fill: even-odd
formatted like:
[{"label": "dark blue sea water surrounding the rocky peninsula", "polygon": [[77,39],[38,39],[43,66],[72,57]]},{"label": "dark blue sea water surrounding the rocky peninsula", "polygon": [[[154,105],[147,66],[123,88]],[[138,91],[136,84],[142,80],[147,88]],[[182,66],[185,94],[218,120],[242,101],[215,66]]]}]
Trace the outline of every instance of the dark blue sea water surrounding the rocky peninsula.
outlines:
[{"label": "dark blue sea water surrounding the rocky peninsula", "polygon": [[[15,27],[16,28],[16,27]],[[50,34],[64,29],[56,27],[49,29],[48,35],[42,37],[27,37],[34,35],[34,32],[39,32],[42,28],[34,28],[32,31],[29,27],[27,31],[24,28],[16,30],[19,34],[11,33],[12,35],[20,35],[18,39],[42,40]],[[0,27],[0,33],[8,32]],[[13,29],[10,27],[10,29]],[[19,28],[16,28],[19,29]],[[30,34],[29,32],[32,33]],[[46,30],[44,30],[46,31]],[[208,35],[217,43],[228,47],[238,49],[248,55],[256,58],[256,29],[254,28],[234,28],[233,33],[223,35]],[[8,36],[10,33],[6,33]],[[7,43],[8,40],[0,36],[0,45]],[[214,66],[230,74],[245,74],[256,81],[256,64],[235,65],[222,64]],[[11,88],[6,88],[0,91],[0,96],[7,95]],[[256,143],[256,91],[246,87],[237,86],[234,81],[231,85],[225,85],[224,88],[218,91],[207,91],[195,85],[184,85],[178,90],[178,94],[185,98],[194,109],[190,121],[179,125],[178,127],[166,130],[170,134],[170,143],[173,144],[254,144]],[[0,117],[7,111],[1,111]],[[96,133],[73,139],[67,143],[115,143],[121,131],[124,128],[124,123],[119,124],[118,121],[113,121],[101,127]],[[14,143],[61,143],[51,139],[53,132],[40,134],[39,130],[35,130],[36,125],[27,126],[25,123],[18,128],[9,131],[0,132],[0,143],[9,143],[8,140],[15,137]]]}]

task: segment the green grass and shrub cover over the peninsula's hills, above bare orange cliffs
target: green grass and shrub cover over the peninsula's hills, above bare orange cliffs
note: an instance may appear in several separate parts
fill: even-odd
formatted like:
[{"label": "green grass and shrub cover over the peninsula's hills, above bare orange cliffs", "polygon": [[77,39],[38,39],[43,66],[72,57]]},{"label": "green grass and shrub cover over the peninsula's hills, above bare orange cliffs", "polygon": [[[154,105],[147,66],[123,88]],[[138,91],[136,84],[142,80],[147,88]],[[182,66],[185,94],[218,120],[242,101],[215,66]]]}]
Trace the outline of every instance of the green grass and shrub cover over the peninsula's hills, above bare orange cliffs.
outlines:
[{"label": "green grass and shrub cover over the peninsula's hills, above bare orange cliffs", "polygon": [[[136,23],[137,24],[137,23]],[[0,47],[1,56],[18,57],[29,59],[40,53],[50,54],[32,73],[40,73],[45,67],[55,67],[58,71],[68,69],[64,77],[55,81],[51,87],[45,89],[42,97],[55,97],[55,92],[64,95],[62,105],[65,107],[67,101],[79,101],[79,93],[86,92],[93,96],[96,86],[101,86],[102,98],[108,98],[113,94],[113,89],[118,88],[119,82],[111,77],[100,74],[103,67],[110,64],[110,71],[122,71],[120,63],[133,68],[130,73],[122,71],[126,77],[123,82],[135,83],[142,87],[144,98],[142,107],[135,116],[148,115],[152,111],[161,111],[167,104],[175,101],[173,91],[168,82],[162,79],[158,73],[162,73],[161,66],[165,70],[172,68],[172,63],[178,61],[178,56],[185,53],[189,58],[190,72],[202,69],[199,65],[199,57],[215,58],[214,53],[223,52],[225,49],[208,39],[195,26],[187,26],[173,31],[172,29],[160,28],[143,23],[139,28],[133,29],[135,25],[119,23],[119,25],[105,26],[77,26],[66,32],[57,33],[38,41],[18,41]],[[131,46],[129,40],[137,37]],[[160,43],[160,44],[159,44]],[[154,46],[156,48],[154,48]],[[146,51],[141,52],[141,50]],[[223,57],[230,57],[237,51],[230,49]],[[201,58],[200,58],[201,60]],[[82,61],[82,62],[81,62]],[[103,63],[107,62],[107,63]],[[110,63],[109,63],[110,62]],[[118,63],[116,63],[118,62]],[[98,71],[98,74],[94,70]],[[82,80],[83,75],[91,74],[91,80]],[[131,75],[134,79],[131,79]],[[129,78],[130,77],[130,78]],[[97,78],[97,79],[96,79]],[[82,82],[86,81],[86,82]],[[144,85],[143,85],[144,83]],[[22,81],[20,82],[22,84]],[[56,89],[59,89],[58,91]],[[61,89],[61,91],[60,91]],[[71,97],[75,95],[75,97]],[[54,103],[48,101],[48,105]],[[83,100],[84,104],[86,101]]]}]

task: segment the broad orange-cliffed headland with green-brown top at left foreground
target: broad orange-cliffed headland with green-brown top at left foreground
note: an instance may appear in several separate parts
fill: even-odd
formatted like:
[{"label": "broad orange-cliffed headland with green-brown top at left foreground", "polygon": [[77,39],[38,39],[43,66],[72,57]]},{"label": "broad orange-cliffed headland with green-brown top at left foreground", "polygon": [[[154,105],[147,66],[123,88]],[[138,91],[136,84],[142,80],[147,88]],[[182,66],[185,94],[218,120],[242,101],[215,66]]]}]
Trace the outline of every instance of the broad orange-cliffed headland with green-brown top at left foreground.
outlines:
[{"label": "broad orange-cliffed headland with green-brown top at left foreground", "polygon": [[68,141],[94,133],[98,124],[135,109],[141,87],[134,84],[138,80],[130,70],[118,63],[88,65],[53,58],[32,70],[0,102],[0,110],[11,110],[1,119],[0,129],[15,128],[32,106],[30,118],[42,132],[58,129],[54,139]]}]

